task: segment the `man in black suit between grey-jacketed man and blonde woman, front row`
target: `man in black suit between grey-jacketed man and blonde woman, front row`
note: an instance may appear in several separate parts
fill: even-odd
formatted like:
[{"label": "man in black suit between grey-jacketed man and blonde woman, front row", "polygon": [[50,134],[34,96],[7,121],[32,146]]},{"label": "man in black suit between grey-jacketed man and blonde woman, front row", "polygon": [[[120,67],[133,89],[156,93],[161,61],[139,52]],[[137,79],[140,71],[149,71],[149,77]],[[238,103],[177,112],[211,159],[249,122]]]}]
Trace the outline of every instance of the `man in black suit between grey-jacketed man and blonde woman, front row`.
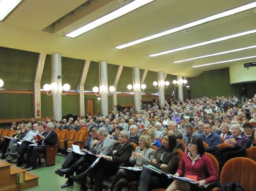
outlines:
[{"label": "man in black suit between grey-jacketed man and blonde woman, front row", "polygon": [[[73,181],[84,181],[87,175],[94,175],[94,191],[102,191],[104,177],[107,175],[115,175],[120,164],[129,161],[133,151],[133,145],[128,142],[129,134],[127,131],[120,132],[119,143],[113,145],[112,150],[107,153],[107,156],[100,158],[99,162],[89,168],[80,175],[71,176]],[[83,182],[82,181],[82,182]],[[86,190],[86,187],[81,187],[80,190]]]}]

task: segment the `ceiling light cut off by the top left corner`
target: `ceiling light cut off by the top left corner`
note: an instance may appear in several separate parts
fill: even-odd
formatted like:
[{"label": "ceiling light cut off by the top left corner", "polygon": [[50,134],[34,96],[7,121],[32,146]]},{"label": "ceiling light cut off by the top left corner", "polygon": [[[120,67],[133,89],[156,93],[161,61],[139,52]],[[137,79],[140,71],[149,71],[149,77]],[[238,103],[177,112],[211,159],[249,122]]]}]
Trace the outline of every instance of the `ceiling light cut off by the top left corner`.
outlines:
[{"label": "ceiling light cut off by the top left corner", "polygon": [[0,0],[0,21],[21,2],[21,0]]}]

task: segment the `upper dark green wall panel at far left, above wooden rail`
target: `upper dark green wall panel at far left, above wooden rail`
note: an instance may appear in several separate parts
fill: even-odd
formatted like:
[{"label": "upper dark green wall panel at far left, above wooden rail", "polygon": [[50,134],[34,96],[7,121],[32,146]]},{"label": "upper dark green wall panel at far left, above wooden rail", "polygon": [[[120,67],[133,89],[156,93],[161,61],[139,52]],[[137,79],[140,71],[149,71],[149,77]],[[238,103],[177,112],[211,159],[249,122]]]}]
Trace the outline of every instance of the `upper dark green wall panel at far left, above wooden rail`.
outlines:
[{"label": "upper dark green wall panel at far left, above wooden rail", "polygon": [[38,53],[0,47],[0,76],[5,89],[32,89]]}]

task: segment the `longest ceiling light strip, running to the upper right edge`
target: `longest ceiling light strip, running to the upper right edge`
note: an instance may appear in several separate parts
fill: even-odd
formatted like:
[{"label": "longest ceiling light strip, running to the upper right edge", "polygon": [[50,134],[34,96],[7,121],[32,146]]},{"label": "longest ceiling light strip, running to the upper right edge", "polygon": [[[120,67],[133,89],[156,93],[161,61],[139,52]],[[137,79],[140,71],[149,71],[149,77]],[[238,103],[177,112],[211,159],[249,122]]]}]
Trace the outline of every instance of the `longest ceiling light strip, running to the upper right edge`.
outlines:
[{"label": "longest ceiling light strip, running to the upper right edge", "polygon": [[126,43],[126,44],[123,44],[123,45],[120,45],[120,46],[116,46],[115,48],[117,48],[117,49],[127,48],[127,47],[129,47],[129,46],[137,45],[137,44],[139,44],[139,43],[142,43],[142,42],[145,42],[145,41],[148,41],[148,40],[152,40],[152,39],[154,39],[154,38],[162,37],[162,36],[165,36],[165,35],[169,35],[169,34],[171,34],[171,33],[174,33],[174,32],[178,32],[178,31],[180,31],[180,30],[188,29],[188,28],[190,28],[190,27],[194,27],[194,26],[196,26],[196,25],[200,25],[200,24],[209,22],[209,21],[214,21],[214,20],[216,20],[216,19],[224,18],[224,17],[226,17],[226,16],[230,16],[230,15],[232,15],[232,14],[239,13],[239,12],[241,12],[241,11],[246,11],[246,10],[249,10],[249,9],[251,9],[251,8],[254,8],[254,7],[256,7],[256,2],[249,3],[249,4],[247,4],[247,5],[243,5],[243,6],[234,8],[234,9],[232,9],[232,10],[225,11],[225,12],[223,12],[223,13],[215,14],[215,15],[209,16],[209,17],[207,17],[207,18],[200,19],[200,20],[198,20],[198,21],[190,22],[190,23],[185,24],[185,25],[182,25],[182,26],[180,26],[180,27],[176,27],[176,28],[174,28],[174,29],[166,30],[166,31],[164,31],[164,32],[160,32],[160,33],[157,33],[157,34],[148,36],[148,37],[144,37],[144,38],[141,38],[141,39],[132,41],[132,42],[130,42],[130,43]]}]

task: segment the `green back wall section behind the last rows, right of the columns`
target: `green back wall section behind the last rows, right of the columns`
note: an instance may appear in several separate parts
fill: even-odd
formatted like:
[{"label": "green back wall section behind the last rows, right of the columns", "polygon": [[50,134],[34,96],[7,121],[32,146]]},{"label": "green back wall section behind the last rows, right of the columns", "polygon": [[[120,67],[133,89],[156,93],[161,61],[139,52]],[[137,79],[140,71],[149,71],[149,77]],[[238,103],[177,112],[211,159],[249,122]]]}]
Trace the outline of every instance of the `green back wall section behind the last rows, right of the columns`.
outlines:
[{"label": "green back wall section behind the last rows, right of the columns", "polygon": [[203,92],[209,97],[230,96],[229,69],[210,70],[191,78],[192,97],[201,97]]}]

